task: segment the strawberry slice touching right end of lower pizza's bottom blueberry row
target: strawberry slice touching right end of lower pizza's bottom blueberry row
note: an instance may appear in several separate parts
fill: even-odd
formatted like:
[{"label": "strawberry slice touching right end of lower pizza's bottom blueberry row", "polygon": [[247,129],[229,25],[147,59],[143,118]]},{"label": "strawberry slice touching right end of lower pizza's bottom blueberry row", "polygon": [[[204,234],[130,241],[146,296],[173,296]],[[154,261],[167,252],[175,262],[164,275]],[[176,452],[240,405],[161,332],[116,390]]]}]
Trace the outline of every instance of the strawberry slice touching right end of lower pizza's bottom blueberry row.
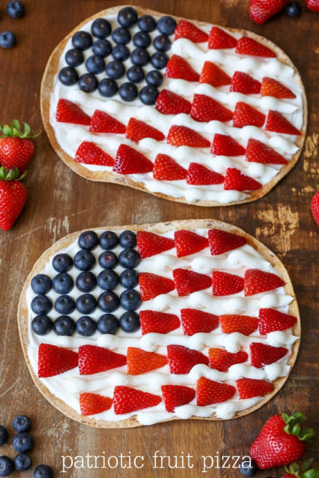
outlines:
[{"label": "strawberry slice touching right end of lower pizza's bottom blueberry row", "polygon": [[139,321],[141,323],[141,335],[152,332],[168,334],[180,327],[180,319],[177,315],[155,312],[155,310],[141,310]]}]

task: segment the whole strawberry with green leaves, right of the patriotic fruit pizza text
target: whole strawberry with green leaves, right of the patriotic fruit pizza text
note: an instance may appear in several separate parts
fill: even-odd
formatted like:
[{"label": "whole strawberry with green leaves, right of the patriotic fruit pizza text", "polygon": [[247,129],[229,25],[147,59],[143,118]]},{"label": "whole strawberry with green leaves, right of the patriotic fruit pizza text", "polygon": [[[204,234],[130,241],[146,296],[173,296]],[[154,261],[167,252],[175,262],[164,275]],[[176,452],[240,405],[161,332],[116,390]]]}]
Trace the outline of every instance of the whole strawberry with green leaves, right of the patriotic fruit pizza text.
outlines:
[{"label": "whole strawberry with green leaves, right of the patriotic fruit pizza text", "polygon": [[295,412],[292,416],[275,415],[266,421],[250,447],[250,457],[261,470],[288,465],[302,457],[305,441],[315,434],[312,428],[300,427],[304,420],[306,417],[302,413]]}]

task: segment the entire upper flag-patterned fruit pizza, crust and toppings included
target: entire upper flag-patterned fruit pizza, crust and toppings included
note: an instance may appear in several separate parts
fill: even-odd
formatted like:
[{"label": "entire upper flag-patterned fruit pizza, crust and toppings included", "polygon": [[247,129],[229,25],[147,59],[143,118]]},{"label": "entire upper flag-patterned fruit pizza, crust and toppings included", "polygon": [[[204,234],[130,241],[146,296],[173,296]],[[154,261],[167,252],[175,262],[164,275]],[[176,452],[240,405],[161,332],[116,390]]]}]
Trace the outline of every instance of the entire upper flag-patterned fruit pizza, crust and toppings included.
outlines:
[{"label": "entire upper flag-patterned fruit pizza, crust and toppings included", "polygon": [[53,51],[42,118],[79,175],[218,206],[293,168],[307,102],[291,60],[255,33],[114,7]]}]

